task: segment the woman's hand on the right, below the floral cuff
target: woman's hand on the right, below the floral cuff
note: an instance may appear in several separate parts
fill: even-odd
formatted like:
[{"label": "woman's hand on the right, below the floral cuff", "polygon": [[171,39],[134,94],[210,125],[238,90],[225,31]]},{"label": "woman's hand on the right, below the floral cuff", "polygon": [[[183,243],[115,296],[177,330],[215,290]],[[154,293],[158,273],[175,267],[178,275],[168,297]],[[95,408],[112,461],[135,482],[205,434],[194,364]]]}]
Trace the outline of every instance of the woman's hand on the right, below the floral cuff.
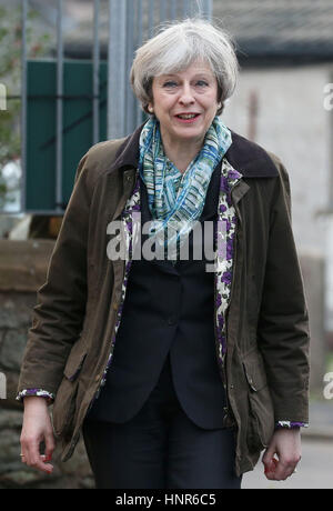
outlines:
[{"label": "woman's hand on the right, below the floral cuff", "polygon": [[[272,481],[285,481],[294,473],[301,460],[301,453],[300,428],[276,430],[262,458],[265,465],[265,477]],[[274,458],[274,454],[279,459]]]}]

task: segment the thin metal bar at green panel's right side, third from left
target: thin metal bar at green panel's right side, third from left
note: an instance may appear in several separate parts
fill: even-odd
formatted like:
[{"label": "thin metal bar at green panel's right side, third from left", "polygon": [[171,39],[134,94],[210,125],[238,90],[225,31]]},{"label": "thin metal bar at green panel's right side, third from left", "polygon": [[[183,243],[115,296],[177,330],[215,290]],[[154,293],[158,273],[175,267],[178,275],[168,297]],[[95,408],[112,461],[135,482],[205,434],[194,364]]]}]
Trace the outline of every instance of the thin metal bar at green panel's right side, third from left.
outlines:
[{"label": "thin metal bar at green panel's right side, third from left", "polygon": [[92,100],[92,143],[100,141],[100,0],[93,3],[93,100]]}]

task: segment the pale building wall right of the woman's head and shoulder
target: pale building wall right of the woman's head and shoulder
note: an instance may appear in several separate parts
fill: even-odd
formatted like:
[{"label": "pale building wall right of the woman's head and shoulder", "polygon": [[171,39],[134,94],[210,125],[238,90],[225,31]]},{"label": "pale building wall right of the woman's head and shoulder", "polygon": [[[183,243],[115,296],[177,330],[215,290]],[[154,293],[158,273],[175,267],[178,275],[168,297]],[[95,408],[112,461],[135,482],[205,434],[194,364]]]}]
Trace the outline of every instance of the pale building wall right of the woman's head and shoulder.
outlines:
[{"label": "pale building wall right of the woman's head and shoulder", "polygon": [[333,330],[332,220],[321,214],[332,208],[333,112],[324,109],[324,86],[333,81],[332,68],[333,64],[317,64],[244,69],[222,120],[274,152],[286,167],[296,247],[299,252],[325,259],[326,324]]}]

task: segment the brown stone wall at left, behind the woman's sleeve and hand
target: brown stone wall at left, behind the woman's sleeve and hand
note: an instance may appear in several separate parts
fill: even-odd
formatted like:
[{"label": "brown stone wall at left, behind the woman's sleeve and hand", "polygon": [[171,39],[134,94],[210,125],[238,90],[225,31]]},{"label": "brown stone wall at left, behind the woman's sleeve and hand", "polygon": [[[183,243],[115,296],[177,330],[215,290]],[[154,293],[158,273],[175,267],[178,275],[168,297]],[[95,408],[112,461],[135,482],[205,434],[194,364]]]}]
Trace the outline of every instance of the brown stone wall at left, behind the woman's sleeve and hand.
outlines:
[{"label": "brown stone wall at left, behind the woman's sleeve and hand", "polygon": [[[27,331],[31,324],[37,289],[44,282],[54,241],[0,240],[0,373],[6,375],[0,392],[0,489],[90,489],[93,478],[83,442],[67,463],[53,457],[52,475],[36,471],[20,460],[23,407],[16,401]],[[1,380],[2,381],[2,380]]]}]

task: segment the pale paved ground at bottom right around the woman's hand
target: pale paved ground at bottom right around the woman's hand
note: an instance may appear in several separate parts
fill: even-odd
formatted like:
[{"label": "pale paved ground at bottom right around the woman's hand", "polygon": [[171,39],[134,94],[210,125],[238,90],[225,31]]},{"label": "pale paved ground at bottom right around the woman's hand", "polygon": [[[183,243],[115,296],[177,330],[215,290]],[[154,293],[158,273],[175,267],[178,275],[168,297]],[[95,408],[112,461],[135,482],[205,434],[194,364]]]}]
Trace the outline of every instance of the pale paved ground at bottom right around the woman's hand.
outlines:
[{"label": "pale paved ground at bottom right around the woman's hand", "polygon": [[244,490],[333,490],[333,437],[332,439],[312,439],[303,435],[302,460],[297,473],[286,481],[269,481],[263,474],[263,464],[259,461],[255,470],[244,474]]}]

